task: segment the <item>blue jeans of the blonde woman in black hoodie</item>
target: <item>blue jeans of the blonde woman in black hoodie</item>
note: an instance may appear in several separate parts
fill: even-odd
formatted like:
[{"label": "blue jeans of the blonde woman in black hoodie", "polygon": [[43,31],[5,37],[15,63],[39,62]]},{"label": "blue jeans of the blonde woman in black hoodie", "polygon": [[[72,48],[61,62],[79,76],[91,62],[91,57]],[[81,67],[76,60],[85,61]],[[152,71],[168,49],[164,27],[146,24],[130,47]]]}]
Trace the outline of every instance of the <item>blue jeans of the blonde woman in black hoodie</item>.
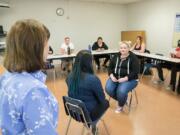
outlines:
[{"label": "blue jeans of the blonde woman in black hoodie", "polygon": [[123,107],[126,103],[128,92],[133,90],[137,84],[137,80],[119,83],[113,82],[111,78],[109,78],[106,82],[105,90],[110,97],[118,101],[119,106]]}]

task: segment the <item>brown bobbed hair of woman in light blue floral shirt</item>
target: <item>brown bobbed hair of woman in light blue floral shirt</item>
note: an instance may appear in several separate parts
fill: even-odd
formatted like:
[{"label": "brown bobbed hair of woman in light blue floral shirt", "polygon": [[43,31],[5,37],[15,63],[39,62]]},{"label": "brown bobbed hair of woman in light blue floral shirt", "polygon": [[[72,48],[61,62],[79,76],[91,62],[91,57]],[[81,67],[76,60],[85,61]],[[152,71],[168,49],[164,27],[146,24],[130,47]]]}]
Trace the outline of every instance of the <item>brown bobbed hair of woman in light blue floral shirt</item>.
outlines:
[{"label": "brown bobbed hair of woman in light blue floral shirt", "polygon": [[17,21],[6,39],[5,68],[10,72],[34,72],[44,66],[43,53],[48,33],[36,20]]}]

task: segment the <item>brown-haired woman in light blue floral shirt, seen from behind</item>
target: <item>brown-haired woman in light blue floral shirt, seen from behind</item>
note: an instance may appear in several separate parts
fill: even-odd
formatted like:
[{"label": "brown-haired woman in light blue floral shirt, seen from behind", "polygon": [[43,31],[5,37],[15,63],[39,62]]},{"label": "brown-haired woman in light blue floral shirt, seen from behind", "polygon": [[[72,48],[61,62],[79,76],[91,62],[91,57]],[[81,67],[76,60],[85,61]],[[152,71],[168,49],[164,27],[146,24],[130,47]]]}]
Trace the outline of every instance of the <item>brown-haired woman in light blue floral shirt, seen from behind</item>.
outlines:
[{"label": "brown-haired woman in light blue floral shirt, seen from behind", "polygon": [[35,20],[17,21],[6,39],[0,78],[0,128],[3,135],[57,135],[58,103],[41,72],[48,34]]}]

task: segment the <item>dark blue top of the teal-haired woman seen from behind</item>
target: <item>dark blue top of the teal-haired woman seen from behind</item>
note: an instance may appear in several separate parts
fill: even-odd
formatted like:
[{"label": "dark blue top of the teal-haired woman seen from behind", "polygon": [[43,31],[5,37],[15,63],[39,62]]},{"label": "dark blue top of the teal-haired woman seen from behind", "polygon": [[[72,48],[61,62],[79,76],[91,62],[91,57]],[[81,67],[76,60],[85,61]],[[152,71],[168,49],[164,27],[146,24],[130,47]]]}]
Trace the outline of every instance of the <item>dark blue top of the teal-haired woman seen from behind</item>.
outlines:
[{"label": "dark blue top of the teal-haired woman seen from behind", "polygon": [[[70,86],[70,80],[71,74],[67,78],[68,88]],[[78,95],[73,95],[69,89],[68,95],[85,103],[92,120],[99,116],[98,112],[104,112],[109,106],[105,99],[101,81],[93,74],[84,73],[84,76],[80,79]]]}]

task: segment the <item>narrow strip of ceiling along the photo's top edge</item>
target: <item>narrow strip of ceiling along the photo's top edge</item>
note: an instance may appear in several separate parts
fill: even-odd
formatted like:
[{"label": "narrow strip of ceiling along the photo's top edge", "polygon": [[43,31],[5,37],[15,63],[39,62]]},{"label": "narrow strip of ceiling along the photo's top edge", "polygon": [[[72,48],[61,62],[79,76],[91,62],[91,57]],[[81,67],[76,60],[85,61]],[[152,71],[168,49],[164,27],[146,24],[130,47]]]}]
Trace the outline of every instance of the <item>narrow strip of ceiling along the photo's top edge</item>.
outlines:
[{"label": "narrow strip of ceiling along the photo's top edge", "polygon": [[[68,1],[68,0],[65,0],[65,1]],[[70,0],[70,1],[74,1],[74,0]],[[101,2],[101,3],[113,3],[113,4],[129,4],[129,3],[145,1],[145,0],[76,0],[76,1]]]}]

